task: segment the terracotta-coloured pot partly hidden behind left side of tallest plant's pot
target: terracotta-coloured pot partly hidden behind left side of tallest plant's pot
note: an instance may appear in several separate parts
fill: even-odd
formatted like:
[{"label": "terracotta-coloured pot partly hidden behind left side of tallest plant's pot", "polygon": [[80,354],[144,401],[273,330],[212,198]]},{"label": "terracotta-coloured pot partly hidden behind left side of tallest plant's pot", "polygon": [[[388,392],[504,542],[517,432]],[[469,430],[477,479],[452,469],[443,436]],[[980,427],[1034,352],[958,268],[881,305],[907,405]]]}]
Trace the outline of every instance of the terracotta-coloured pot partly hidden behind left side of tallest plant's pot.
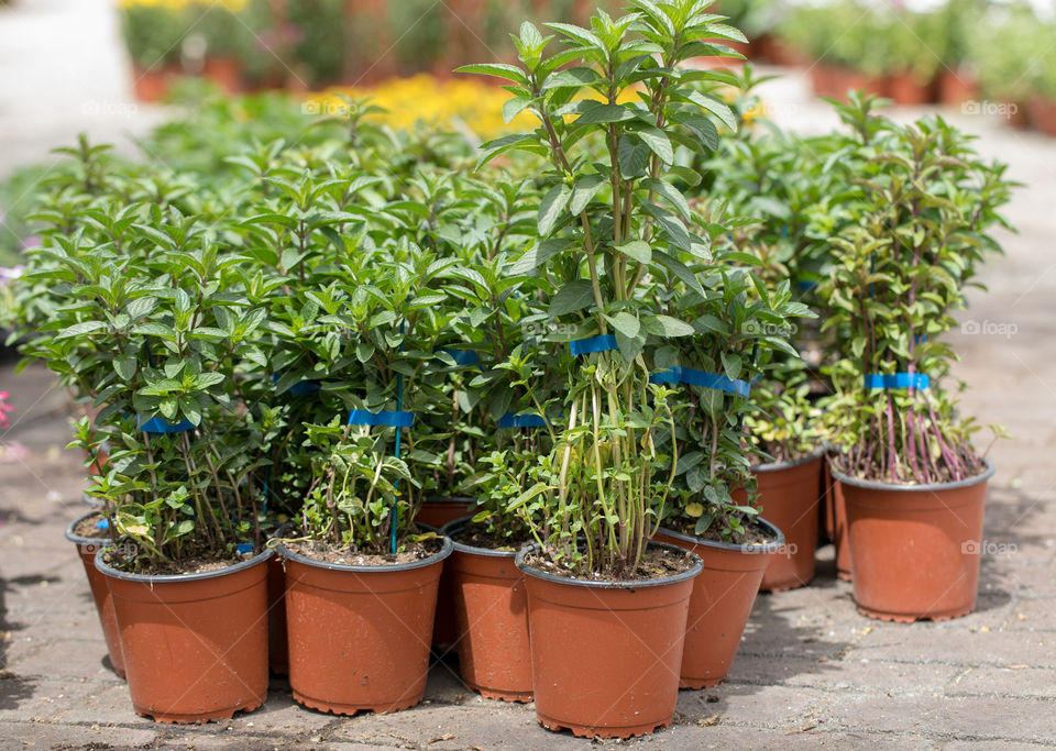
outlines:
[{"label": "terracotta-coloured pot partly hidden behind left side of tallest plant's pot", "polygon": [[531,702],[525,575],[514,563],[516,553],[454,540],[470,519],[443,528],[454,544],[448,568],[454,585],[462,682],[485,698]]}]

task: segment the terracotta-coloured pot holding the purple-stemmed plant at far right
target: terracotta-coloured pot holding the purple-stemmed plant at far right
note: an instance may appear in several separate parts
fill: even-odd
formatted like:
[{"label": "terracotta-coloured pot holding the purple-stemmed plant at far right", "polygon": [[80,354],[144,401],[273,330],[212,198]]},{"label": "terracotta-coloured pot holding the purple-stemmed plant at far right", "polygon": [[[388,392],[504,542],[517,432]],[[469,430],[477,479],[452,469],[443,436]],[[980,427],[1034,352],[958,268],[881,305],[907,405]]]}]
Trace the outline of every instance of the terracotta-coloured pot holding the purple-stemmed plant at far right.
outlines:
[{"label": "terracotta-coloured pot holding the purple-stemmed plant at far right", "polygon": [[935,485],[891,485],[833,474],[847,501],[858,609],[908,623],[971,612],[993,465],[988,462],[976,477]]}]

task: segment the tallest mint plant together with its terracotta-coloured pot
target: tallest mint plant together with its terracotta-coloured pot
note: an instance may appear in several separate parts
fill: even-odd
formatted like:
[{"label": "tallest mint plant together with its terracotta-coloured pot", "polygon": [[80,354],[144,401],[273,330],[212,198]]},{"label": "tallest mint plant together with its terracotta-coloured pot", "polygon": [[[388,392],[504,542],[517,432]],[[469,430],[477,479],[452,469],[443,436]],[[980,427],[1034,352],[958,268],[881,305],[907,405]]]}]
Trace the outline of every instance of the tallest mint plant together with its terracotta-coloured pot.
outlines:
[{"label": "tallest mint plant together with its terracotta-coloured pot", "polygon": [[[564,43],[556,54],[546,52],[553,37],[526,23],[519,65],[461,69],[505,78],[507,115],[529,110],[539,120],[532,133],[485,144],[483,158],[518,150],[547,158],[539,240],[526,263],[554,290],[548,313],[559,325],[548,339],[568,342],[571,355],[560,361],[566,386],[552,405],[561,413],[553,448],[507,511],[536,540],[516,560],[539,720],[629,737],[671,722],[701,571],[695,556],[650,544],[675,470],[676,423],[674,389],[650,384],[647,363],[657,342],[695,332],[670,312],[681,311],[680,292],[661,303],[653,288],[703,295],[684,259],[710,257],[670,181],[692,178],[674,150],[713,147],[716,121],[736,128],[728,107],[693,85],[728,77],[680,65],[745,40],[692,0],[638,1],[623,18],[598,12],[588,29],[548,29]],[[636,85],[637,100],[625,101]],[[549,419],[551,405],[540,407]]]}]

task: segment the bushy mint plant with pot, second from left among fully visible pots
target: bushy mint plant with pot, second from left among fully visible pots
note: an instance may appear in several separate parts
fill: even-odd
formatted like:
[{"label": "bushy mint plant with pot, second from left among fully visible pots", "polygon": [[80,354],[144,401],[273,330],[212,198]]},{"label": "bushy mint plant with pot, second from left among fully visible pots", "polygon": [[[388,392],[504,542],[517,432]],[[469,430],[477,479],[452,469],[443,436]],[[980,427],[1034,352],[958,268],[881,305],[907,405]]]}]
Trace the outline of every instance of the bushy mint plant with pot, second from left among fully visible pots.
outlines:
[{"label": "bushy mint plant with pot, second from left among fully visible pots", "polygon": [[[278,383],[321,377],[318,409],[336,415],[306,426],[310,481],[279,543],[289,682],[294,698],[316,709],[395,711],[421,700],[451,553],[449,540],[415,523],[420,477],[436,456],[429,437],[414,439],[420,426],[411,430],[438,404],[433,352],[452,317],[440,273],[450,264],[399,233],[355,258],[346,252],[337,249],[344,263],[305,258],[306,277],[320,285],[302,291],[316,301],[314,320],[276,328],[289,353]],[[298,272],[288,274],[293,287]]]}]

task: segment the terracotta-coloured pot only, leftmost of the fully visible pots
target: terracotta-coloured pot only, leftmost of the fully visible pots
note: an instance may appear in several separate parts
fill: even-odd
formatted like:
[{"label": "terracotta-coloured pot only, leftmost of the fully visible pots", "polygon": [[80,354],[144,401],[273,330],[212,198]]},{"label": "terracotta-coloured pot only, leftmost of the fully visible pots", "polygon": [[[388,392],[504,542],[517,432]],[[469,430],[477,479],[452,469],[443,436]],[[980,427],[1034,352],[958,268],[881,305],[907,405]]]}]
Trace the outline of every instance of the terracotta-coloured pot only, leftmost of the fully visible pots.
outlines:
[{"label": "terracotta-coloured pot only, leftmost of the fully visible pots", "polygon": [[121,629],[136,714],[205,722],[267,698],[267,560],[271,550],[220,571],[144,576],[96,554]]}]

